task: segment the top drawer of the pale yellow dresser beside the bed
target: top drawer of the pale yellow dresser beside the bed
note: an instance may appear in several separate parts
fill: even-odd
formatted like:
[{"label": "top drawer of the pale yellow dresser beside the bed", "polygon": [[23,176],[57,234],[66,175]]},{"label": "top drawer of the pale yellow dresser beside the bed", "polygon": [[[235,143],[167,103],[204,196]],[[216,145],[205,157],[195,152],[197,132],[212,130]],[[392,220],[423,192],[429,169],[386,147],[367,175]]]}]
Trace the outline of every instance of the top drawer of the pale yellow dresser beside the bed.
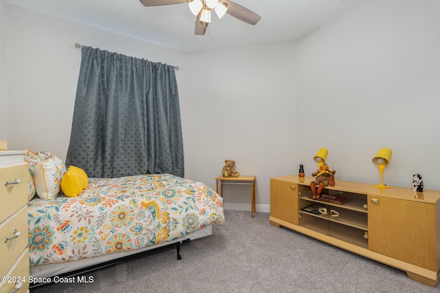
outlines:
[{"label": "top drawer of the pale yellow dresser beside the bed", "polygon": [[[19,184],[5,186],[16,179]],[[0,223],[28,203],[28,164],[0,168],[0,203]]]}]

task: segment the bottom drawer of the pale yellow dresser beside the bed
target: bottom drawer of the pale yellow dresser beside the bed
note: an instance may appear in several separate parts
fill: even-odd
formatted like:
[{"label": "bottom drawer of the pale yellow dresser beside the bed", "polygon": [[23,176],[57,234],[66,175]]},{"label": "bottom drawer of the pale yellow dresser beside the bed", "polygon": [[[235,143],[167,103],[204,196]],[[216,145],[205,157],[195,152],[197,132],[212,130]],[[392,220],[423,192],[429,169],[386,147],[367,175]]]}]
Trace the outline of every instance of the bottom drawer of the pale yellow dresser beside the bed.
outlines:
[{"label": "bottom drawer of the pale yellow dresser beside the bed", "polygon": [[0,293],[3,292],[12,292],[14,291],[16,287],[16,283],[22,283],[20,290],[16,291],[17,293],[20,292],[28,292],[29,288],[29,251],[28,248],[23,250],[21,252],[21,255],[19,259],[17,259],[17,262],[12,265],[12,268],[10,268],[9,272],[5,275],[6,276],[6,282],[0,283]]}]

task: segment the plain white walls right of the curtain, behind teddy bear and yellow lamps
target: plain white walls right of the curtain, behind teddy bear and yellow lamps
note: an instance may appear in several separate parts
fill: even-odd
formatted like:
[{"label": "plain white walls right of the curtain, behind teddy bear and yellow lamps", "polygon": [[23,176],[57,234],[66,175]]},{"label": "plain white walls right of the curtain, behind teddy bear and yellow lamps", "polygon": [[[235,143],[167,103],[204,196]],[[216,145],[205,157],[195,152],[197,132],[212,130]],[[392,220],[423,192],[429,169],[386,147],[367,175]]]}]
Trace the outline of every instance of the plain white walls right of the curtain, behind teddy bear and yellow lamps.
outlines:
[{"label": "plain white walls right of the curtain, behind teddy bear and yellow lamps", "polygon": [[[300,163],[310,175],[320,147],[337,180],[371,183],[371,159],[388,147],[385,184],[421,173],[440,189],[429,155],[440,142],[439,12],[438,1],[368,1],[294,43],[190,54],[190,174],[214,184],[234,159],[256,175],[265,210],[270,177]],[[225,207],[249,204],[247,187],[225,187]]]}]

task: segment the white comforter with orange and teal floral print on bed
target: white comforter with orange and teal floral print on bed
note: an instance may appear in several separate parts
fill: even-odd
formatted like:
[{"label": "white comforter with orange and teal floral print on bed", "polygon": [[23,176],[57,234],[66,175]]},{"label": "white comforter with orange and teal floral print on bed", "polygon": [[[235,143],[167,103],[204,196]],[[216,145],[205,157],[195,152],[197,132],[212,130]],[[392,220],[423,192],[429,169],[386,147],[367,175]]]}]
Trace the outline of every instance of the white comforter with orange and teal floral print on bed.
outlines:
[{"label": "white comforter with orange and teal floral print on bed", "polygon": [[217,193],[170,174],[89,178],[78,197],[36,197],[28,207],[31,266],[144,248],[224,221]]}]

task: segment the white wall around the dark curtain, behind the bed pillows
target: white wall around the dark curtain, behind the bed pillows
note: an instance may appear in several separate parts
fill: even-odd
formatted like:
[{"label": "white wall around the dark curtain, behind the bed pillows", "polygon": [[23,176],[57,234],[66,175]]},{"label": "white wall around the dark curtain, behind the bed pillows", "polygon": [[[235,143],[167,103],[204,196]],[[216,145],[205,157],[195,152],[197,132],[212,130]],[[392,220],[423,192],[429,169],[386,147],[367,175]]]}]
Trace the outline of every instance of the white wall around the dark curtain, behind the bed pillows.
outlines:
[{"label": "white wall around the dark curtain, behind the bed pillows", "polygon": [[178,65],[184,127],[187,54],[39,12],[7,7],[10,149],[50,151],[65,160],[81,61],[75,43]]}]

